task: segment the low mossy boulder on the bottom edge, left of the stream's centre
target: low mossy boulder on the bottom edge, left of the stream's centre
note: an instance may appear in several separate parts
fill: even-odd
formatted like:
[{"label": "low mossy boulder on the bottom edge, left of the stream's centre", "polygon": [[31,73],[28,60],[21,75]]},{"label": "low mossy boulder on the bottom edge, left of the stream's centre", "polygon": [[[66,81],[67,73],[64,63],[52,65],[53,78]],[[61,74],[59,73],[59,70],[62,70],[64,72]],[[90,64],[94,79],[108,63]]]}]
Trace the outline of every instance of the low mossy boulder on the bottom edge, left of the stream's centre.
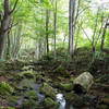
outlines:
[{"label": "low mossy boulder on the bottom edge, left of the stream's centre", "polygon": [[36,109],[37,102],[33,99],[29,99],[23,102],[22,109]]}]

